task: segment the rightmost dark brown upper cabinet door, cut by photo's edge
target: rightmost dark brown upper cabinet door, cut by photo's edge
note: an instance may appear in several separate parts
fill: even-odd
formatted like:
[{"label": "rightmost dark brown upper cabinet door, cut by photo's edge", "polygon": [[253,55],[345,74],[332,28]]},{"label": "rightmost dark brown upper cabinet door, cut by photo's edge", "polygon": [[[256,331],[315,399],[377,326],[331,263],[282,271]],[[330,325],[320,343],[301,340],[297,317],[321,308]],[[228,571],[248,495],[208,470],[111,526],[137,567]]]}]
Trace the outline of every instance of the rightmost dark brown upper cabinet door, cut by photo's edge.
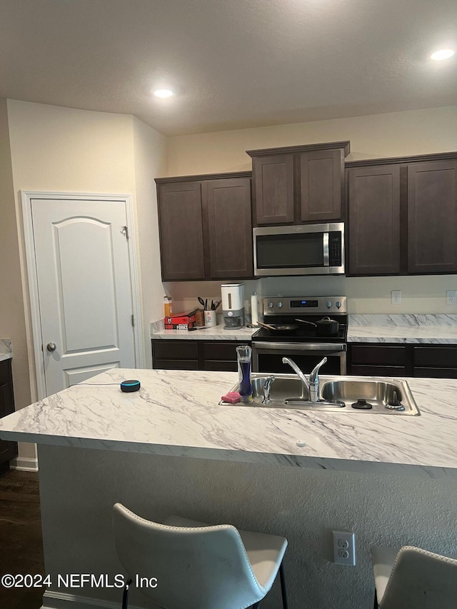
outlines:
[{"label": "rightmost dark brown upper cabinet door, cut by photo's edge", "polygon": [[408,273],[457,271],[457,161],[408,165]]}]

